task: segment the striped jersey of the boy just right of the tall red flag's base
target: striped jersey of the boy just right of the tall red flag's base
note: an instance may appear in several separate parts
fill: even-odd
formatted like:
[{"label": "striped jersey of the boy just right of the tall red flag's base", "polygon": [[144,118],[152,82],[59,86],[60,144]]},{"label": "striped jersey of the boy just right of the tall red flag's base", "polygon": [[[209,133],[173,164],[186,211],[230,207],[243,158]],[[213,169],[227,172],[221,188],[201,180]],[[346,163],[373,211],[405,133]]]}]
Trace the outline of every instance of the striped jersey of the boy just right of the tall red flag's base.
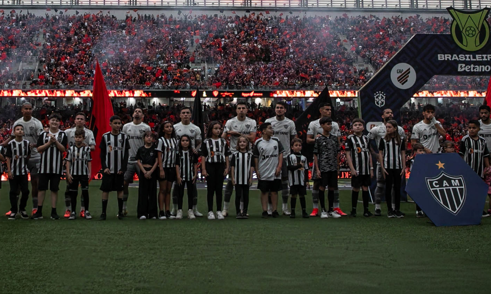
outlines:
[{"label": "striped jersey of the boy just right of the tall red flag's base", "polygon": [[110,173],[126,172],[130,143],[125,133],[120,132],[117,135],[113,135],[111,132],[105,133],[102,135],[99,148],[101,148],[101,165],[103,171],[109,169]]}]

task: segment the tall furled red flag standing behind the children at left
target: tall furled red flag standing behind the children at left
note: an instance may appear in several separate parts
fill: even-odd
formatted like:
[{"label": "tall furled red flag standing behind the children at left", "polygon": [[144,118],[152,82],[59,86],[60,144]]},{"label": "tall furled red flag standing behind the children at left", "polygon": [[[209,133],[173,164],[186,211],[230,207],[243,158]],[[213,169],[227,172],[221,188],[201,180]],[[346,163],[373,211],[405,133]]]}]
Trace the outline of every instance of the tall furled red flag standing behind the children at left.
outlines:
[{"label": "tall furled red flag standing behind the children at left", "polygon": [[111,99],[109,98],[108,89],[106,88],[104,77],[102,76],[99,61],[97,61],[95,69],[92,100],[94,106],[92,107],[90,128],[96,135],[96,148],[94,152],[92,152],[92,174],[90,175],[90,179],[93,179],[94,175],[101,170],[101,149],[99,149],[99,144],[101,144],[102,135],[111,131],[111,127],[109,126],[109,118],[114,115]]}]

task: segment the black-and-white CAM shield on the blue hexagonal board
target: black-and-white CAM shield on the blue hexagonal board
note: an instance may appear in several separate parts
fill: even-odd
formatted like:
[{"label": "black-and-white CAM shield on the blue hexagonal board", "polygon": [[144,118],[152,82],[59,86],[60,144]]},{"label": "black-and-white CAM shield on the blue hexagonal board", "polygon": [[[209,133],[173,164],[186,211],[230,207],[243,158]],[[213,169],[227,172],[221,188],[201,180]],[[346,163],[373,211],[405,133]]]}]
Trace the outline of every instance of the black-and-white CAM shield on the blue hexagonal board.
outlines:
[{"label": "black-and-white CAM shield on the blue hexagonal board", "polygon": [[453,215],[457,215],[464,206],[466,189],[462,175],[440,172],[434,178],[426,178],[426,185],[436,202]]}]

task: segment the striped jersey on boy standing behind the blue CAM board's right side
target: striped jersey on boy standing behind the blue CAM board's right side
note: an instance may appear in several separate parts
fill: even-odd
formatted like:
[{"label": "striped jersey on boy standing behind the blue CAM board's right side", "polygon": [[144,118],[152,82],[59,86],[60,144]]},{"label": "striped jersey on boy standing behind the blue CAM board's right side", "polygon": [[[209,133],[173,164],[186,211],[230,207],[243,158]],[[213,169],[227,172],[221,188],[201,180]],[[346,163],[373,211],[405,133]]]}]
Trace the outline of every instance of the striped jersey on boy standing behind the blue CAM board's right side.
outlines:
[{"label": "striped jersey on boy standing behind the blue CAM board's right side", "polygon": [[474,140],[469,135],[465,135],[460,142],[459,154],[464,157],[465,162],[474,172],[483,177],[484,158],[490,156],[486,139],[479,136]]}]

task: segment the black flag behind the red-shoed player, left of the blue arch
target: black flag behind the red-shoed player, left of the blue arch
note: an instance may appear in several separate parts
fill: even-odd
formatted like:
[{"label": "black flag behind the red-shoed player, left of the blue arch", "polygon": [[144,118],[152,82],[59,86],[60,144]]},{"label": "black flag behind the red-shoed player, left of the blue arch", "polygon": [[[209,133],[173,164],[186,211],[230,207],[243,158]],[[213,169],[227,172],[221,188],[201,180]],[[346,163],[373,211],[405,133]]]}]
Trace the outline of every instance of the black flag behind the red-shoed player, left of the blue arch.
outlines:
[{"label": "black flag behind the red-shoed player, left of the blue arch", "polygon": [[[327,103],[331,106],[331,118],[335,121],[335,110],[332,100],[329,96],[329,89],[324,88],[319,97],[315,98],[312,103],[305,109],[305,111],[299,116],[297,121],[295,121],[295,126],[297,128],[297,134],[299,138],[303,141],[302,154],[307,158],[308,161],[312,161],[314,157],[314,146],[312,144],[307,145],[307,129],[308,124],[320,118],[321,113],[319,112],[319,105],[321,103]],[[314,136],[315,137],[315,136]]]}]

